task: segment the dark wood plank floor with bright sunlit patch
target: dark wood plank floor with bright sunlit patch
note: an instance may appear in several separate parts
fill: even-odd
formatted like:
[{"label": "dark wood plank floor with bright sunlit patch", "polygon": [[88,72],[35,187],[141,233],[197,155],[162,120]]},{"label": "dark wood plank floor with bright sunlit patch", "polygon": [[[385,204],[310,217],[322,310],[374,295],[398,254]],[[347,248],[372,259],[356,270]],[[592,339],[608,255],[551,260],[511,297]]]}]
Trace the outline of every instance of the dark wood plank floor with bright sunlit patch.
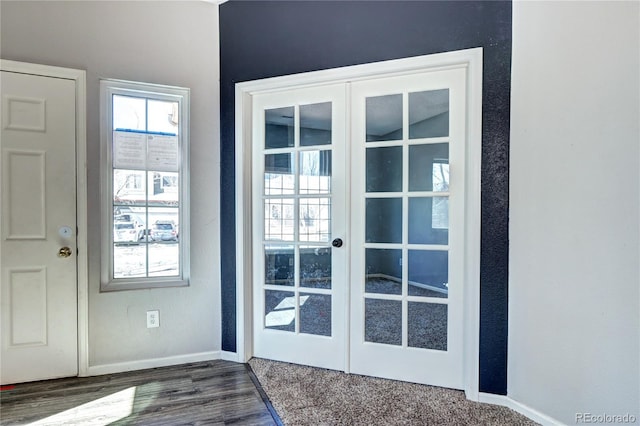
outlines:
[{"label": "dark wood plank floor with bright sunlit patch", "polygon": [[0,424],[280,425],[252,376],[219,360],[18,384],[0,392]]}]

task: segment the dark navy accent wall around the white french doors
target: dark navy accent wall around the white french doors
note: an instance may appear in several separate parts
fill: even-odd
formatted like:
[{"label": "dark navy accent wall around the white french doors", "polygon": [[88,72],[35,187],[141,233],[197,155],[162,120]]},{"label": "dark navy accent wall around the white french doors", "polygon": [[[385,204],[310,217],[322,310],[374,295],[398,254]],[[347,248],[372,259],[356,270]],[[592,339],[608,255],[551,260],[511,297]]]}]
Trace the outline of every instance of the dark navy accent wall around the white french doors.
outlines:
[{"label": "dark navy accent wall around the white french doors", "polygon": [[484,48],[480,391],[506,394],[508,1],[229,1],[220,6],[224,351],[236,351],[235,83],[473,47]]}]

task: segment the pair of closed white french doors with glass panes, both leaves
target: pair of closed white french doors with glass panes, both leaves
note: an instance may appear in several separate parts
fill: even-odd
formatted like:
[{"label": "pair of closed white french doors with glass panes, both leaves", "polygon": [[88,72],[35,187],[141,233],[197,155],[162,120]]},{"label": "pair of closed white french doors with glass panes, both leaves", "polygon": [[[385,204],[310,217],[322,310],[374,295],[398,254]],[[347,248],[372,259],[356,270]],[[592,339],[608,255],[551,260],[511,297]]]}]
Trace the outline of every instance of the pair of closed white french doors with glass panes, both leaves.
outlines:
[{"label": "pair of closed white french doors with glass panes, both leaves", "polygon": [[252,96],[253,355],[464,387],[467,72]]}]

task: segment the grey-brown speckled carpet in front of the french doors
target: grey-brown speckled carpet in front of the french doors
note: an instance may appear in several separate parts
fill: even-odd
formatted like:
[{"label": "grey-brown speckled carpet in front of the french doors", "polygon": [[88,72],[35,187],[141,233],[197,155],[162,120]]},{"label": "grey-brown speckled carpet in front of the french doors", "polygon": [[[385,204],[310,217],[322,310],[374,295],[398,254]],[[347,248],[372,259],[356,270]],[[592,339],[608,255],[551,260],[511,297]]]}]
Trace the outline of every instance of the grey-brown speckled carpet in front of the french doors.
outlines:
[{"label": "grey-brown speckled carpet in front of the french doors", "polygon": [[464,392],[260,358],[249,361],[286,426],[535,425],[508,408]]}]

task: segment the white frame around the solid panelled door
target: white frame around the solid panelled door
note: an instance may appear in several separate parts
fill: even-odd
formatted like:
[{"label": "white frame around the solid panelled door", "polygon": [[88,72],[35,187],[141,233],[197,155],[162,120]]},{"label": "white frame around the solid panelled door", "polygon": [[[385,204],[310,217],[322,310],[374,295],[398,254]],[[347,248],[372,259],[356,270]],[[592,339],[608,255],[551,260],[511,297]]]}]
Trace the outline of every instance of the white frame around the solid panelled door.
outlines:
[{"label": "white frame around the solid panelled door", "polygon": [[89,260],[87,241],[87,76],[86,71],[0,59],[0,69],[75,82],[76,240],[78,376],[89,375]]}]

